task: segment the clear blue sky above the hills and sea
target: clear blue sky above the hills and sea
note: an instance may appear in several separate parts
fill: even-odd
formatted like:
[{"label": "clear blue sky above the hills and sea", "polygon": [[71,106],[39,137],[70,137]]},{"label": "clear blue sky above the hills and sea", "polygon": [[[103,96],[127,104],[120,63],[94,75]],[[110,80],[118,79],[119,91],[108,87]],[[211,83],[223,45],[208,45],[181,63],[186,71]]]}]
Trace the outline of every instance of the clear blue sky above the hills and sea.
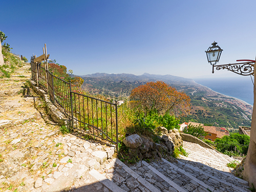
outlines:
[{"label": "clear blue sky above the hills and sea", "polygon": [[205,50],[224,50],[220,64],[255,59],[256,1],[2,0],[0,30],[12,52],[30,60],[47,44],[73,74],[143,73],[187,78],[211,74]]}]

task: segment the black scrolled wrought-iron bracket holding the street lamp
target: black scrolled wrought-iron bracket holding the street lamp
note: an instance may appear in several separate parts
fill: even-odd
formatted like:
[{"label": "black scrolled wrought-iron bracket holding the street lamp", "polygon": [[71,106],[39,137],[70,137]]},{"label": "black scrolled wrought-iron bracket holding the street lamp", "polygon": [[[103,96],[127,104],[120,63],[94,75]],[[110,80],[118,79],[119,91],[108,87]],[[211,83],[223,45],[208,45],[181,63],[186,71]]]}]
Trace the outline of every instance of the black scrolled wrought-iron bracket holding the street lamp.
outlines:
[{"label": "black scrolled wrought-iron bracket holding the street lamp", "polygon": [[214,68],[216,70],[227,69],[228,71],[232,71],[239,75],[254,75],[254,64],[255,61],[250,62],[240,62],[240,63],[229,63],[224,65],[213,65],[212,66],[212,73],[214,73]]}]

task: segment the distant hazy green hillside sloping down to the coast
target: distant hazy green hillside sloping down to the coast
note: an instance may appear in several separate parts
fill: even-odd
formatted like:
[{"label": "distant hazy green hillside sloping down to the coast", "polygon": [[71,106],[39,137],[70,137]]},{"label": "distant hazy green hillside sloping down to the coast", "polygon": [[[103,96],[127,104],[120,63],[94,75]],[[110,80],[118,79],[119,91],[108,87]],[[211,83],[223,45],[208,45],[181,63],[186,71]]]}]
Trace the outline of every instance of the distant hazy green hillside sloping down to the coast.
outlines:
[{"label": "distant hazy green hillside sloping down to the coast", "polygon": [[148,81],[162,80],[191,99],[191,111],[181,122],[197,121],[204,124],[233,127],[250,126],[252,106],[240,100],[216,93],[192,79],[172,75],[143,75],[95,73],[81,76],[82,88],[93,93],[124,99],[131,91]]}]

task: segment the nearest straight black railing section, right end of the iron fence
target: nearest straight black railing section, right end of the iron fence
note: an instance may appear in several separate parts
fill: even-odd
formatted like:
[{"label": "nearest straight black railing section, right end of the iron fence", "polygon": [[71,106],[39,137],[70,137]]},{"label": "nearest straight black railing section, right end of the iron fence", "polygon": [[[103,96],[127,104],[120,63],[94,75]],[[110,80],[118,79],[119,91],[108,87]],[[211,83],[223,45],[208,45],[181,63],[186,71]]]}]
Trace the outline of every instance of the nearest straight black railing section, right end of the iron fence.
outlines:
[{"label": "nearest straight black railing section, right end of the iron fence", "polygon": [[118,143],[117,104],[71,92],[73,128]]}]

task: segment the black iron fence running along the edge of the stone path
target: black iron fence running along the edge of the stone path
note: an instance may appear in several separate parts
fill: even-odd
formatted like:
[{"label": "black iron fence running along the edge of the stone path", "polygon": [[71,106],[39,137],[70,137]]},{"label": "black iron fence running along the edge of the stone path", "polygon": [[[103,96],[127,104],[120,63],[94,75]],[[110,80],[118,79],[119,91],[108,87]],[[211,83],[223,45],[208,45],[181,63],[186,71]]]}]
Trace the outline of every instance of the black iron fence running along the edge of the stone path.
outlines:
[{"label": "black iron fence running along the edge of the stone path", "polygon": [[32,79],[48,92],[55,106],[72,119],[72,129],[115,143],[118,150],[117,104],[72,91],[71,82],[54,76],[33,59],[31,57]]}]

